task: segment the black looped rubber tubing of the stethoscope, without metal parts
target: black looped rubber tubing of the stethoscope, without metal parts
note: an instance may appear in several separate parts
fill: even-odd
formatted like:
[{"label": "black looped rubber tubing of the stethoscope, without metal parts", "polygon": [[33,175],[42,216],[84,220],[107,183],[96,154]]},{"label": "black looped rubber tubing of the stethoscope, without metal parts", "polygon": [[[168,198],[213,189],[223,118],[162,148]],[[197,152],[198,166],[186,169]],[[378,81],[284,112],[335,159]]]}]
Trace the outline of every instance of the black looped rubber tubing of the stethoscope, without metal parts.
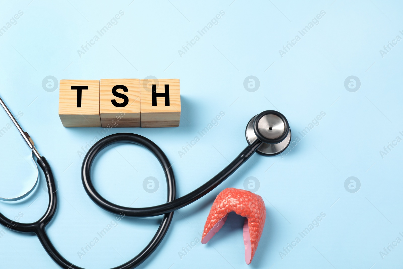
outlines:
[{"label": "black looped rubber tubing of the stethoscope, without metal parts", "polygon": [[[287,126],[288,128],[288,126]],[[105,198],[103,198],[93,187],[91,182],[91,165],[97,156],[98,153],[102,151],[106,146],[109,146],[114,143],[119,142],[129,142],[133,144],[137,144],[140,146],[144,146],[145,148],[149,149],[158,159],[162,168],[164,169],[164,174],[166,177],[166,184],[167,184],[167,202],[165,204],[160,204],[157,206],[150,206],[150,207],[143,207],[143,208],[131,208],[126,206],[119,206],[117,204],[113,204],[109,202]],[[219,184],[221,184],[225,179],[227,179],[232,173],[234,173],[245,161],[247,161],[254,152],[262,145],[262,141],[256,139],[253,143],[248,145],[238,156],[235,158],[229,165],[227,165],[220,173],[214,176],[212,179],[207,181],[205,184],[190,192],[189,194],[182,196],[181,198],[175,199],[176,193],[176,186],[175,186],[175,179],[172,167],[168,158],[154,142],[151,140],[137,135],[133,133],[116,133],[105,138],[99,140],[96,144],[94,144],[87,154],[85,155],[83,165],[81,167],[81,178],[83,181],[83,186],[85,191],[87,192],[88,196],[99,206],[103,209],[120,215],[124,214],[125,216],[131,217],[151,217],[157,215],[164,215],[161,221],[160,226],[152,240],[150,241],[147,246],[141,250],[137,256],[133,259],[114,267],[112,269],[129,269],[134,268],[140,265],[148,256],[154,252],[154,250],[158,247],[161,243],[162,239],[164,238],[170,223],[172,221],[172,217],[175,210],[186,206],[199,198],[202,198],[204,195],[211,192],[214,188],[216,188]],[[54,178],[52,174],[52,170],[50,169],[50,165],[48,161],[46,161],[45,157],[39,157],[37,159],[37,163],[39,167],[45,174],[46,183],[48,185],[48,194],[49,194],[49,204],[46,213],[37,221],[33,223],[20,223],[16,221],[12,221],[5,217],[2,213],[0,213],[0,223],[9,229],[20,231],[20,232],[27,232],[27,233],[34,233],[39,238],[42,246],[49,254],[49,256],[62,268],[64,269],[83,269],[82,267],[78,267],[73,265],[69,261],[63,258],[62,255],[54,248],[52,242],[48,238],[46,234],[46,225],[50,222],[52,217],[56,212],[57,207],[57,195],[56,195],[56,188],[54,183]]]}]

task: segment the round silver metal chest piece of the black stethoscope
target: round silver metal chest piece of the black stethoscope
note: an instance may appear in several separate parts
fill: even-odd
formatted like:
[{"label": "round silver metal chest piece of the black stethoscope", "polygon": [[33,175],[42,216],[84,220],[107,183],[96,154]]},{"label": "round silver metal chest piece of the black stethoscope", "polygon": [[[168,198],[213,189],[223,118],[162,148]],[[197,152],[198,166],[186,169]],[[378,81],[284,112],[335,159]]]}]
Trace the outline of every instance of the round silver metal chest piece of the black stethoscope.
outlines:
[{"label": "round silver metal chest piece of the black stethoscope", "polygon": [[246,140],[264,142],[256,152],[273,156],[283,152],[291,141],[291,129],[287,119],[278,111],[266,110],[253,117],[246,126]]}]

